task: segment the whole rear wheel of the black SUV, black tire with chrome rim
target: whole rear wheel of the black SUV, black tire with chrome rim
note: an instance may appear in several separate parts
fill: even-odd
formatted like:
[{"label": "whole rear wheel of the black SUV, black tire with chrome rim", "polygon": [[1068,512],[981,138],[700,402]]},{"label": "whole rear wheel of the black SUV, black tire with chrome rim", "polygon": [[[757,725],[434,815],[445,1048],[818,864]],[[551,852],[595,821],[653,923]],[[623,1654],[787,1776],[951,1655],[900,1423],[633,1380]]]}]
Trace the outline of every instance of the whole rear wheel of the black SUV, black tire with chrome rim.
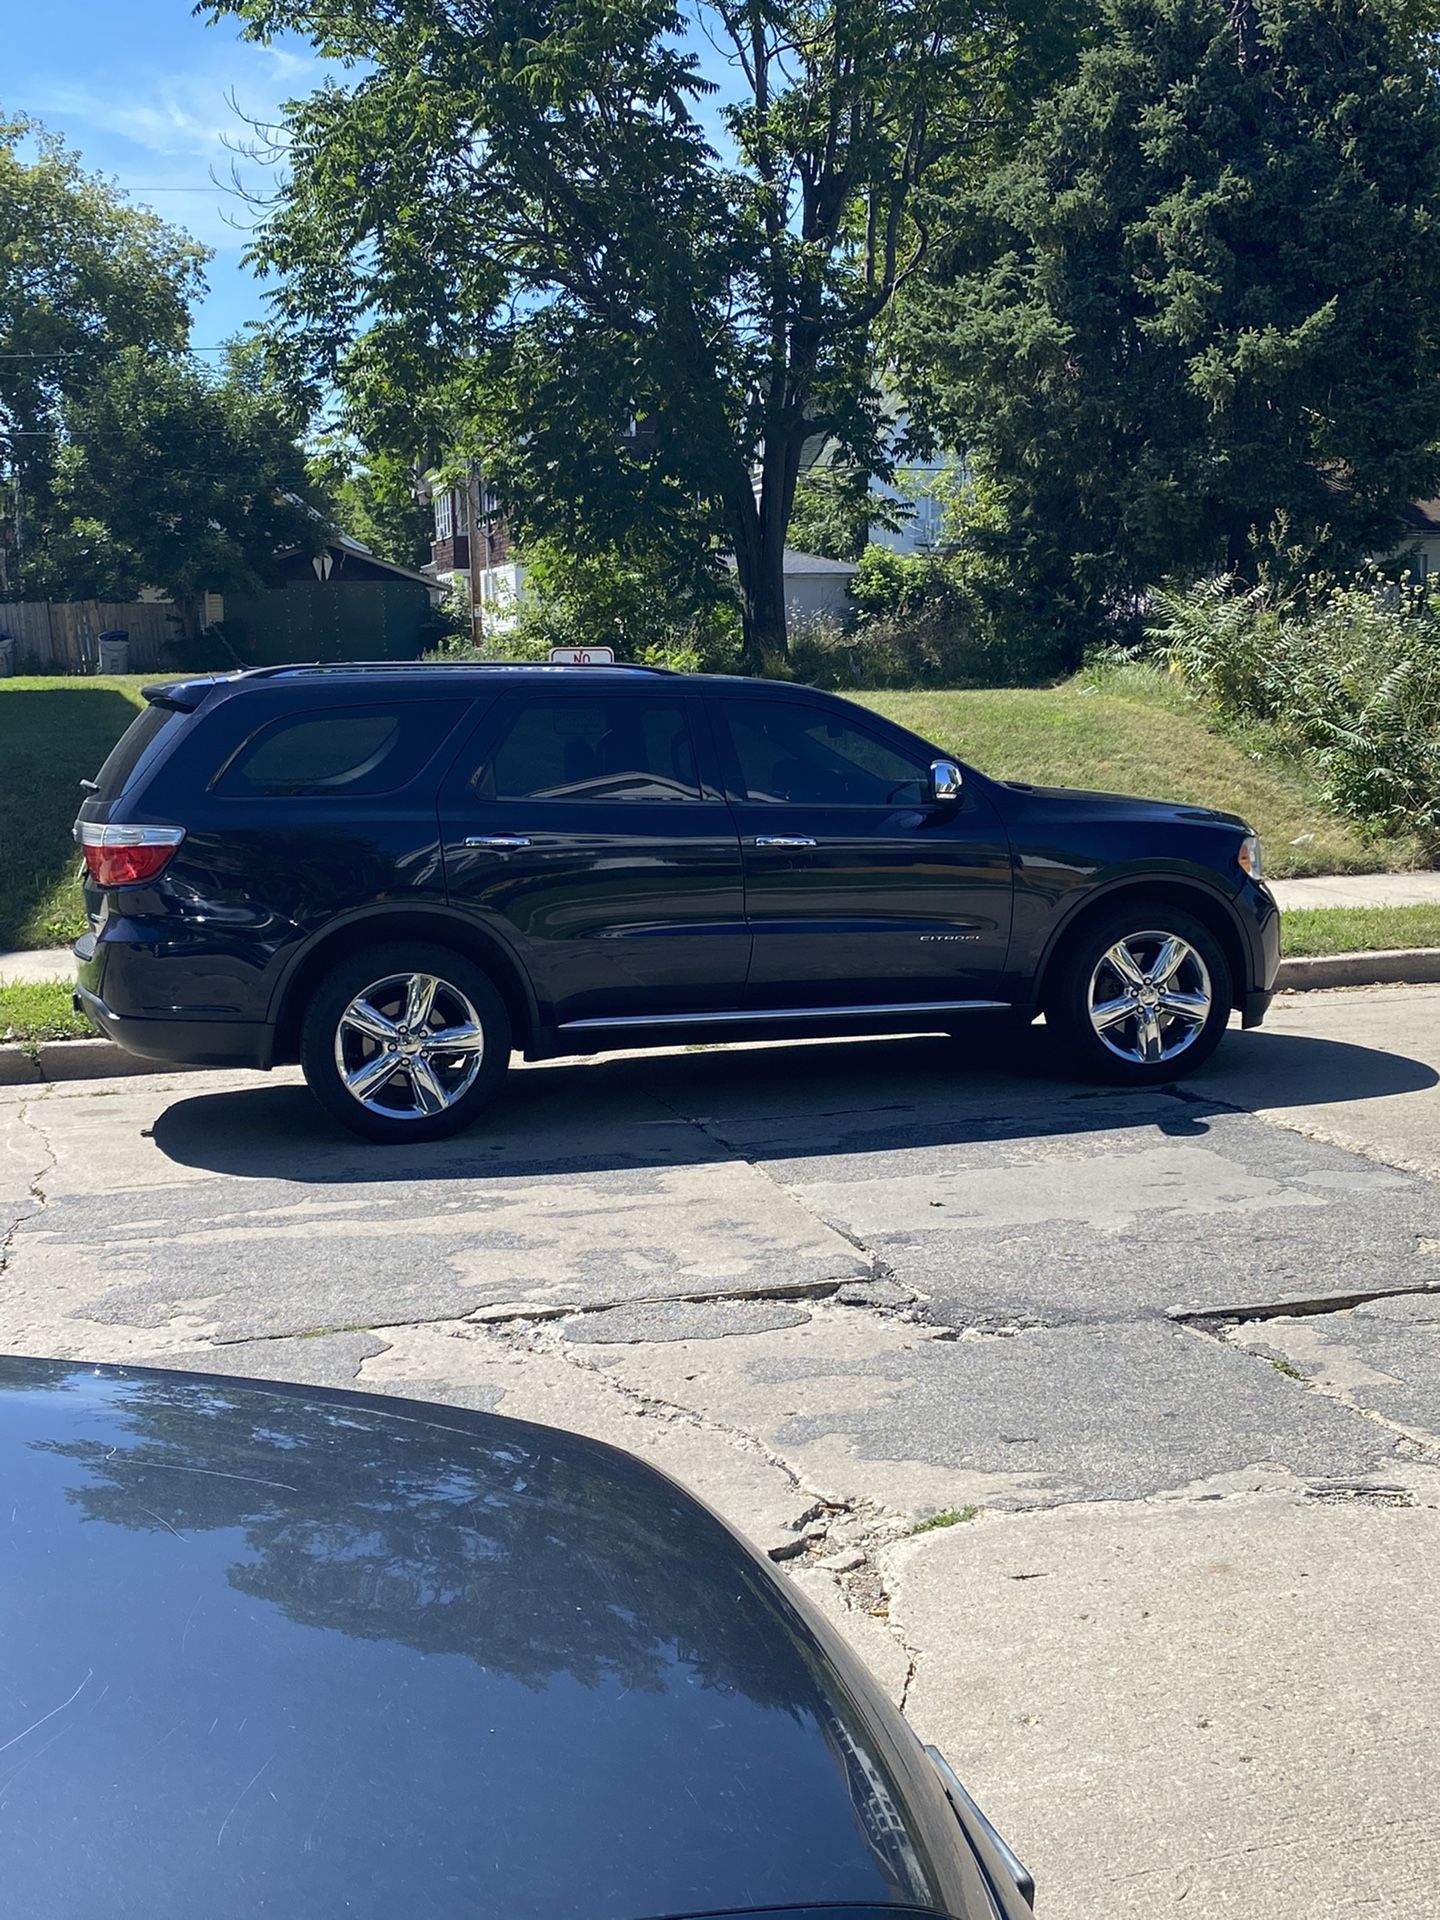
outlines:
[{"label": "whole rear wheel of the black SUV, black tire with chrome rim", "polygon": [[[409,983],[426,979],[438,985],[428,1014],[411,1031],[405,1008],[419,1012],[422,989],[413,1000]],[[367,1012],[359,1016],[361,1025],[346,1016],[369,989],[374,989],[369,1006],[380,1021],[372,1023]],[[394,1043],[380,1039],[384,1025],[396,1031]],[[465,1044],[434,1048],[436,1031],[453,1033]],[[363,1094],[348,1085],[342,1058],[351,1077],[374,1069]],[[386,1058],[396,1062],[388,1075]],[[351,1133],[386,1144],[440,1140],[468,1127],[492,1104],[511,1064],[511,1016],[484,968],[449,947],[426,941],[367,947],[334,966],[311,993],[300,1029],[300,1064],[319,1104]]]}]

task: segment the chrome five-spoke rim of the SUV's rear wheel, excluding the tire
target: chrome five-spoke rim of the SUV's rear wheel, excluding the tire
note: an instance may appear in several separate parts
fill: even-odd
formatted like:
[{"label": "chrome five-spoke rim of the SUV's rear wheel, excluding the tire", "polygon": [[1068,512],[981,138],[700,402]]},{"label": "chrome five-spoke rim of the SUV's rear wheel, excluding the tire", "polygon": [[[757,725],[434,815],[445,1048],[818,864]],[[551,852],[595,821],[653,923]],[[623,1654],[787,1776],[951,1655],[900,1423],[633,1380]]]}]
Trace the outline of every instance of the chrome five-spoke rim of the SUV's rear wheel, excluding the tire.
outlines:
[{"label": "chrome five-spoke rim of the SUV's rear wheel, excluding the tire", "polygon": [[470,1000],[438,973],[388,973],[340,1016],[334,1064],[351,1098],[386,1119],[428,1119],[470,1091],[486,1035]]}]

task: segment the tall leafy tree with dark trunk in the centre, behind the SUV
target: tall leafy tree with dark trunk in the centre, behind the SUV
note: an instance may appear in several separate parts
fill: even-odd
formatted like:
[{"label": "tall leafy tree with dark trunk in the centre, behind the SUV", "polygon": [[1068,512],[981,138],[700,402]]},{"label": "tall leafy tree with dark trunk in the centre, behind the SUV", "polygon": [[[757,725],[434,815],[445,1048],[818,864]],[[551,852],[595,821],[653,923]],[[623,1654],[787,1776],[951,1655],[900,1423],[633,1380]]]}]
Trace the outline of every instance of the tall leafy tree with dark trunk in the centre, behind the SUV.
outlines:
[{"label": "tall leafy tree with dark trunk in the centre, behind the SUV", "polygon": [[803,442],[889,470],[876,328],[924,259],[916,190],[995,154],[1071,44],[1039,23],[1073,4],[213,13],[357,69],[286,109],[290,173],[255,248],[309,369],[382,444],[442,430],[474,455],[522,540],[697,574],[722,543],[758,664],[785,645]]}]

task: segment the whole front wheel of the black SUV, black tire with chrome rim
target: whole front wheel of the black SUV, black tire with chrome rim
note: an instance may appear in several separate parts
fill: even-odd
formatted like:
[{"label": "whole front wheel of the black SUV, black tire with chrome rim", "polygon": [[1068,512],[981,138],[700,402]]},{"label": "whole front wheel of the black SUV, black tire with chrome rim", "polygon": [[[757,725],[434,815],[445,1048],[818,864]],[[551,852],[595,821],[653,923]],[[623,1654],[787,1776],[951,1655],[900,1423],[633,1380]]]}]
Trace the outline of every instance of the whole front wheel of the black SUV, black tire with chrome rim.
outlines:
[{"label": "whole front wheel of the black SUV, black tire with chrome rim", "polygon": [[[1187,956],[1160,985],[1152,973],[1173,956],[1173,948],[1162,950],[1167,939],[1183,943]],[[1117,950],[1135,964],[1135,981],[1116,966]],[[1092,998],[1106,1037],[1092,1018]],[[1131,1000],[1135,1014],[1121,1014]],[[1185,1012],[1171,1010],[1179,1002],[1187,1002]],[[1194,1073],[1219,1046],[1229,1018],[1225,948],[1202,920],[1164,900],[1127,900],[1087,920],[1066,943],[1044,989],[1044,1023],[1075,1071],[1121,1087],[1162,1087]]]}]

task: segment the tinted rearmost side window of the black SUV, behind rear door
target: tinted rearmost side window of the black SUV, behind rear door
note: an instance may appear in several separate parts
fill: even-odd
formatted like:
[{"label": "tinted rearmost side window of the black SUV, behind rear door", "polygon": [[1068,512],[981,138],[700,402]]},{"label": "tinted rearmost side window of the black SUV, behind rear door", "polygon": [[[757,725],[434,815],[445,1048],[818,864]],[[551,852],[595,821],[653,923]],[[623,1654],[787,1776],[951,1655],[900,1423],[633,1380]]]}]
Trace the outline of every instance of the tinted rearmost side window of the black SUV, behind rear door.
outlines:
[{"label": "tinted rearmost side window of the black SUV, behind rear door", "polygon": [[246,741],[217,789],[326,799],[394,793],[420,772],[459,714],[453,701],[286,714]]}]

